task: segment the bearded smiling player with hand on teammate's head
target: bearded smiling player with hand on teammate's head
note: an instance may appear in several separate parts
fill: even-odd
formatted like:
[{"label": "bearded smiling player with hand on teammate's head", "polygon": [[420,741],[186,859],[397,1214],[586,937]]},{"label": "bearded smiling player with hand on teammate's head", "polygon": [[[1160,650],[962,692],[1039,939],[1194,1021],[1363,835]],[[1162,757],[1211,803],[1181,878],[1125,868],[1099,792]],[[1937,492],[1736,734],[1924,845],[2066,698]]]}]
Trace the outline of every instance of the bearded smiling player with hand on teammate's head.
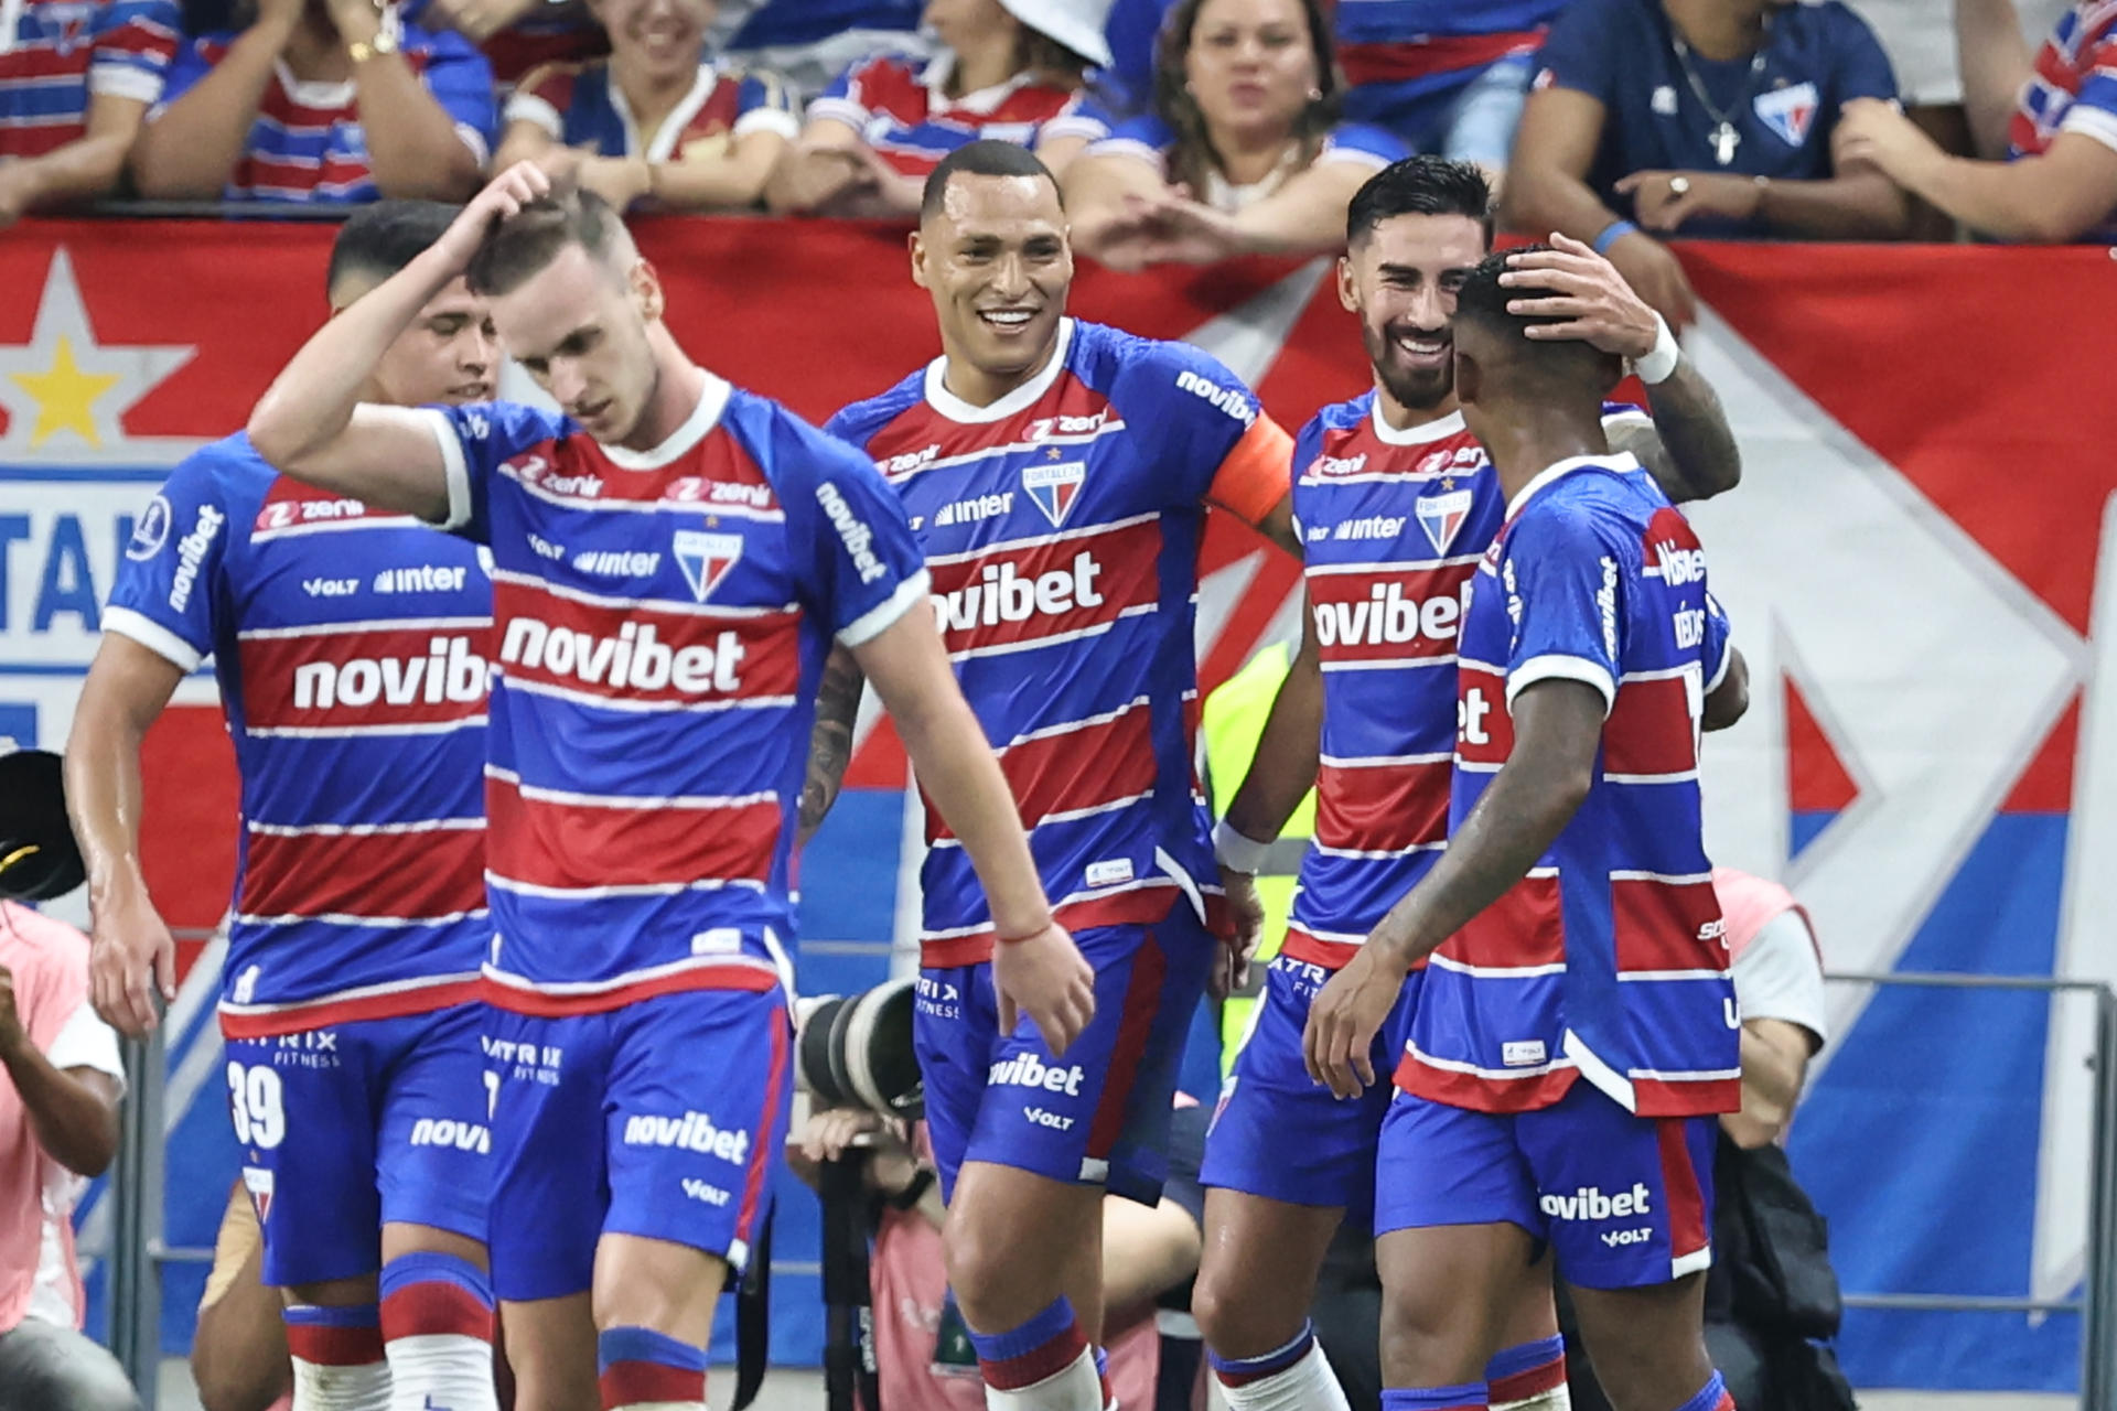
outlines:
[{"label": "bearded smiling player with hand on teammate's head", "polygon": [[[1490,243],[1490,190],[1478,167],[1440,157],[1395,163],[1346,214],[1338,296],[1361,319],[1374,387],[1325,406],[1293,453],[1293,516],[1304,531],[1308,633],[1215,833],[1230,901],[1310,787],[1315,846],[1302,861],[1287,939],[1236,1058],[1202,1180],[1207,1250],[1192,1307],[1236,1411],[1344,1407],[1308,1328],[1317,1276],[1344,1214],[1365,1225],[1374,1144],[1389,1089],[1338,1102],[1302,1064],[1317,990],[1382,914],[1427,874],[1448,838],[1454,660],[1463,588],[1505,516],[1505,495],[1454,398],[1454,290]],[[1605,415],[1675,499],[1736,482],[1734,438],[1704,379],[1660,319],[1590,250],[1526,254],[1522,296],[1567,300],[1567,336],[1628,355],[1653,419]],[[1418,973],[1376,1041],[1404,1047]],[[1550,1293],[1524,1286],[1495,1403],[1539,1405],[1564,1388]]]}]

